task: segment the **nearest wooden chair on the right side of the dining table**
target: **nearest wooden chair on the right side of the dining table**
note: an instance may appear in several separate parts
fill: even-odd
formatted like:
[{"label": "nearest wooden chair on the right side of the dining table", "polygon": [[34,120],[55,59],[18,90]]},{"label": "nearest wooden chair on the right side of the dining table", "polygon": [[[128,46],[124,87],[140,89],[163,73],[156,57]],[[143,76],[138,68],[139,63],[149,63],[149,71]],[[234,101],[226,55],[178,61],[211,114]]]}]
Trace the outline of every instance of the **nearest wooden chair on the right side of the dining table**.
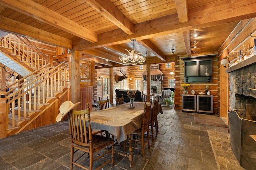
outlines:
[{"label": "nearest wooden chair on the right side of the dining table", "polygon": [[[148,149],[150,148],[150,141],[149,141],[149,121],[150,121],[150,109],[151,109],[152,100],[150,102],[145,102],[144,104],[144,113],[143,113],[143,120],[142,126],[133,131],[132,134],[132,148],[142,150],[142,155],[144,156],[144,148],[148,145]],[[147,133],[147,141],[144,140],[144,135]],[[139,139],[140,137],[140,139]],[[127,139],[129,141],[129,139]],[[138,146],[138,143],[140,146]],[[124,141],[124,150],[126,150],[126,140]]]}]

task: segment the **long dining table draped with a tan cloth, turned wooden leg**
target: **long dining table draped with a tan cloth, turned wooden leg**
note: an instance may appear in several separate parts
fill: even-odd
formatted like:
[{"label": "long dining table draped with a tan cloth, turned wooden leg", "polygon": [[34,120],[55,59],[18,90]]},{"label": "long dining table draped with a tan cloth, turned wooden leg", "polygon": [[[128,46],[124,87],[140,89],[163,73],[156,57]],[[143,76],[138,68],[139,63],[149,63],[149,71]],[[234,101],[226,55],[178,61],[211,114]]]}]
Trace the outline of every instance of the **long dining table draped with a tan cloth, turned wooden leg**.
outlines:
[{"label": "long dining table draped with a tan cloth, turned wooden leg", "polygon": [[134,108],[130,108],[130,103],[125,103],[90,113],[92,129],[108,131],[116,137],[118,143],[126,140],[129,135],[129,152],[120,153],[121,151],[118,151],[116,153],[127,156],[130,167],[133,166],[131,133],[142,126],[144,104],[145,102],[134,102]]}]

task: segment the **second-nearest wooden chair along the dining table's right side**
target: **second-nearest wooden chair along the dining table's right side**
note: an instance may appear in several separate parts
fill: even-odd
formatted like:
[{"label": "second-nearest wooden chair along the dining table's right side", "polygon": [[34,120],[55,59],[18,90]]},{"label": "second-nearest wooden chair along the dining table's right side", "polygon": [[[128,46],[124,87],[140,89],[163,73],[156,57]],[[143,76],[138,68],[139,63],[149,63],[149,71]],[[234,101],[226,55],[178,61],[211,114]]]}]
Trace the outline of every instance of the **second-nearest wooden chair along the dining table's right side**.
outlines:
[{"label": "second-nearest wooden chair along the dining table's right side", "polygon": [[[156,133],[156,137],[158,134],[158,121],[157,121],[157,115],[158,115],[158,103],[159,103],[159,98],[158,97],[154,97],[154,107],[152,109],[152,116],[151,116],[151,120],[149,122],[149,126],[152,133],[152,141],[154,141],[154,133]],[[155,130],[154,130],[155,128]]]}]

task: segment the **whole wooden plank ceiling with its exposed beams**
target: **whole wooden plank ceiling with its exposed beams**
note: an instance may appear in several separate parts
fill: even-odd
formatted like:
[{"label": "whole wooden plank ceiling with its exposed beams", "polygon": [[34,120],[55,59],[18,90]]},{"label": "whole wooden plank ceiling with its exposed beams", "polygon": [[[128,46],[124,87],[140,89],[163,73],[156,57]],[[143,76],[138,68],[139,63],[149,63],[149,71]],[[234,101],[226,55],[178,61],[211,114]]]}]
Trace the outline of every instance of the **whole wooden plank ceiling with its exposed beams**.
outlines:
[{"label": "whole wooden plank ceiling with its exposed beams", "polygon": [[1,0],[0,30],[76,49],[98,68],[123,66],[118,57],[131,39],[148,52],[146,63],[166,63],[217,54],[240,20],[256,17],[255,7],[248,0]]}]

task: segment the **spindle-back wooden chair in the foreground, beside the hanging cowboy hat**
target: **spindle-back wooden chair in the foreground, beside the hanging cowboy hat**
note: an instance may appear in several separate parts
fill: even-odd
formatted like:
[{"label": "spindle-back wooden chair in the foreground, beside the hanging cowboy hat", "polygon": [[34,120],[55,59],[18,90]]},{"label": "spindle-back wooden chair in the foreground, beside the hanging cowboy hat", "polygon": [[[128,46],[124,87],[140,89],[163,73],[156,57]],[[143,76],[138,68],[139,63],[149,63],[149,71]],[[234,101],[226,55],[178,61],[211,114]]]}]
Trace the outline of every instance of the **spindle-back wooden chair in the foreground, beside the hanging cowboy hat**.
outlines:
[{"label": "spindle-back wooden chair in the foreground, beside the hanging cowboy hat", "polygon": [[[86,119],[87,118],[87,119]],[[86,122],[87,121],[87,122]],[[100,135],[93,135],[91,129],[90,122],[90,108],[89,103],[87,103],[87,109],[84,110],[72,110],[69,114],[69,130],[71,137],[71,150],[70,150],[70,170],[73,169],[73,164],[79,166],[80,168],[86,170],[92,170],[93,162],[102,158],[104,155],[111,152],[111,159],[106,159],[105,157],[102,160],[107,160],[104,164],[99,164],[100,166],[97,168],[101,168],[102,166],[108,164],[109,162],[114,165],[114,135],[112,135],[112,139],[108,136],[103,137]],[[111,146],[111,149],[107,149],[106,147]],[[106,148],[106,149],[105,149]],[[84,154],[89,154],[89,168],[87,166],[84,167],[82,164],[79,164],[81,161],[80,158],[83,159],[83,155],[81,156],[81,152],[78,151],[78,155],[74,156],[76,151],[82,150]],[[101,154],[98,154],[97,157],[94,157],[94,152],[102,150]],[[78,159],[74,160],[74,157],[78,157]],[[82,161],[84,163],[85,161]],[[95,168],[95,167],[94,167]]]}]

